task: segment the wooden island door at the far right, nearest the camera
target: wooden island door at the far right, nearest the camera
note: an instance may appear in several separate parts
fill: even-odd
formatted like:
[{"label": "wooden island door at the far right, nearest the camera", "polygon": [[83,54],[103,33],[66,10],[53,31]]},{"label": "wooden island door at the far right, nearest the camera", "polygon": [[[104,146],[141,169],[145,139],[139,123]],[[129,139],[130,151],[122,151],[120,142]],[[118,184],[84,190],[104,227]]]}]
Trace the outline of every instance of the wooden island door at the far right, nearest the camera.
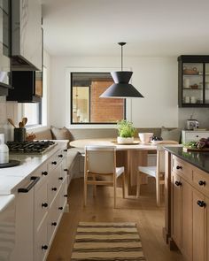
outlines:
[{"label": "wooden island door at the far right, nearest the camera", "polygon": [[[200,205],[199,205],[199,204]],[[205,196],[193,189],[193,260],[205,261],[206,252],[206,208]]]}]

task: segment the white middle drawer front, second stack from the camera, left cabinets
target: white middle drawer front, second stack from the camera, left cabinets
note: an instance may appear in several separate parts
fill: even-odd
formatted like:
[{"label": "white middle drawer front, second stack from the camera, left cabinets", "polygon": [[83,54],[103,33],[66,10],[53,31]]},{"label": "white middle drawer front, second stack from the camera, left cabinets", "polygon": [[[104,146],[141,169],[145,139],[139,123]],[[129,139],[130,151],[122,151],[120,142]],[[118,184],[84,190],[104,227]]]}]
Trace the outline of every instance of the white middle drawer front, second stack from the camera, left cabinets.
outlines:
[{"label": "white middle drawer front, second stack from the camera, left cabinets", "polygon": [[61,172],[61,165],[58,165],[57,168],[51,171],[50,173],[50,180],[48,185],[49,204],[52,203],[55,196],[57,196],[58,189],[61,186],[61,182],[60,180],[58,180],[58,178],[60,177],[60,172]]}]

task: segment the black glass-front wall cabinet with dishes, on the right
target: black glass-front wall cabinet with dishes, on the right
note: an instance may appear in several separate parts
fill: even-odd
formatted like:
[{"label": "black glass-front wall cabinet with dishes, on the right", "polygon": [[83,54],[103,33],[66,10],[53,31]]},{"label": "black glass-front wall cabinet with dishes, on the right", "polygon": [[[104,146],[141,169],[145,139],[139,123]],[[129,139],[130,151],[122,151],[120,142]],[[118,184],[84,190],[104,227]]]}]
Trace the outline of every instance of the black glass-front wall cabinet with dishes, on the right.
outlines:
[{"label": "black glass-front wall cabinet with dishes, on the right", "polygon": [[209,56],[180,56],[179,107],[209,107]]}]

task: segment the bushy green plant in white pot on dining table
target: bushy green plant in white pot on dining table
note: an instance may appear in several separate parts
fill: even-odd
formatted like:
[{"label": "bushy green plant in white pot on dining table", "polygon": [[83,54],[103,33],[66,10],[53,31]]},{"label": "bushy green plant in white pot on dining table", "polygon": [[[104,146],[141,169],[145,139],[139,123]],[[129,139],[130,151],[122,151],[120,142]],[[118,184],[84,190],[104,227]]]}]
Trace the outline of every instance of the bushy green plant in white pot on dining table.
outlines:
[{"label": "bushy green plant in white pot on dining table", "polygon": [[119,136],[117,137],[118,143],[133,143],[134,142],[134,135],[135,135],[135,127],[133,123],[122,119],[118,121],[117,128],[119,131]]}]

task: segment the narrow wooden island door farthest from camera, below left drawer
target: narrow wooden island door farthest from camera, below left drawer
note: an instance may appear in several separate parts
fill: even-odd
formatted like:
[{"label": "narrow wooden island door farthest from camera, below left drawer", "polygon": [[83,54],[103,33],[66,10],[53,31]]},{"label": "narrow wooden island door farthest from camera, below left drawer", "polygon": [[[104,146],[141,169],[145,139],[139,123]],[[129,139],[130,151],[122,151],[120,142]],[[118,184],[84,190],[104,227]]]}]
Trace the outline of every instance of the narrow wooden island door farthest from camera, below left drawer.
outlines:
[{"label": "narrow wooden island door farthest from camera, below left drawer", "polygon": [[[176,182],[181,182],[180,177],[173,173],[172,176],[172,204],[173,204],[173,220],[172,220],[172,237],[176,245],[181,249],[182,248],[182,189],[181,186],[177,186]],[[177,183],[178,184],[178,183]]]}]

